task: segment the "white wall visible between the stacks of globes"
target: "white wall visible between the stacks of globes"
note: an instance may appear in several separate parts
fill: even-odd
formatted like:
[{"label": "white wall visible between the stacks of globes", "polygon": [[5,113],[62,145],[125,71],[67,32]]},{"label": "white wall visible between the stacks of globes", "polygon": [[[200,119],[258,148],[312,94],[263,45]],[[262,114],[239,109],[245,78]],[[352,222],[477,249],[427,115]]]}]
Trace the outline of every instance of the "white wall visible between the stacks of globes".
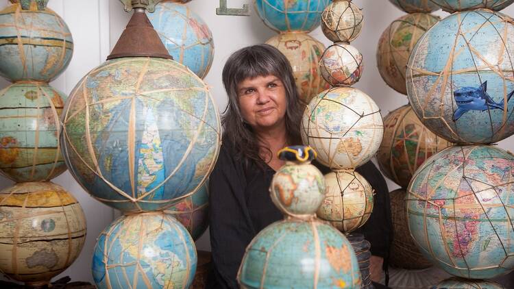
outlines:
[{"label": "white wall visible between the stacks of globes", "polygon": [[[354,0],[360,8],[363,8],[365,25],[352,45],[364,55],[364,73],[360,82],[356,85],[370,95],[382,110],[382,116],[389,111],[407,103],[406,97],[399,95],[389,88],[380,78],[376,68],[376,46],[382,31],[395,18],[402,16],[404,12],[397,10],[387,0]],[[243,3],[252,3],[251,0],[229,0],[231,8],[241,8]],[[0,9],[8,5],[7,0],[0,0]],[[227,103],[225,90],[221,84],[221,70],[228,56],[237,49],[247,45],[254,45],[265,42],[275,33],[267,28],[256,15],[251,5],[252,16],[217,16],[216,8],[219,5],[217,0],[193,0],[187,4],[197,12],[209,25],[215,41],[215,59],[212,63],[210,73],[205,81],[212,86],[212,95],[223,111]],[[51,0],[49,7],[68,24],[73,34],[75,51],[68,69],[53,81],[52,85],[68,94],[77,81],[95,66],[101,64],[109,54],[125,27],[130,14],[123,11],[123,5],[118,0]],[[506,14],[514,16],[514,5],[504,10]],[[440,16],[445,15],[438,12]],[[326,45],[330,42],[323,36],[321,29],[316,29],[312,36],[321,40]],[[0,88],[8,86],[8,82],[0,79]],[[500,142],[500,147],[513,150],[512,138]],[[86,244],[77,261],[62,276],[69,275],[75,281],[91,281],[90,262],[95,245],[95,240],[100,231],[103,230],[114,217],[114,210],[106,205],[95,201],[90,197],[77,182],[64,173],[54,180],[57,184],[64,186],[81,203],[88,221],[88,235]],[[12,185],[8,179],[0,177],[0,189]],[[397,188],[389,181],[389,188]],[[204,234],[197,242],[199,249],[208,249],[208,234]]]}]

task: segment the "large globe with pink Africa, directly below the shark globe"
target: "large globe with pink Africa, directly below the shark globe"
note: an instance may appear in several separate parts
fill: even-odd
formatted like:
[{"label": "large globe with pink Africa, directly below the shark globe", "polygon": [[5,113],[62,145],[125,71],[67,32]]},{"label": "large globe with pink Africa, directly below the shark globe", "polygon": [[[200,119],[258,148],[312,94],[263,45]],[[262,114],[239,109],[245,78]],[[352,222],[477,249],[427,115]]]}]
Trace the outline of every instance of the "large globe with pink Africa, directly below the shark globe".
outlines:
[{"label": "large globe with pink Africa, directly below the shark globe", "polygon": [[408,186],[408,228],[425,257],[457,277],[514,269],[514,156],[491,146],[432,155]]}]

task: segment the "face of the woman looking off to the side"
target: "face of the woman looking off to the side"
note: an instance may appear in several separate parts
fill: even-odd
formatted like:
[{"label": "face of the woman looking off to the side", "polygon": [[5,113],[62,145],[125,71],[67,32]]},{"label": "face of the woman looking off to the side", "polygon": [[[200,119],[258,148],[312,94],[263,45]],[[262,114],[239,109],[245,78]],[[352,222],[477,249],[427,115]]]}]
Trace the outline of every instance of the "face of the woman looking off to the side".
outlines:
[{"label": "face of the woman looking off to the side", "polygon": [[273,75],[247,78],[237,87],[243,118],[256,131],[285,128],[286,89]]}]

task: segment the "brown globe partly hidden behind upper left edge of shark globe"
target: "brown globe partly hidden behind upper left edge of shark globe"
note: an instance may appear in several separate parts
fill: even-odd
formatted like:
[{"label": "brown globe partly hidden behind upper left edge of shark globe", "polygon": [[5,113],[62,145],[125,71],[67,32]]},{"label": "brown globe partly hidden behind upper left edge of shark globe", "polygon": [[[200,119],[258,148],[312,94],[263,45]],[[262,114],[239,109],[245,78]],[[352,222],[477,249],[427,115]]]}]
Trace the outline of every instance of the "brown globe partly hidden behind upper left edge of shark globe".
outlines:
[{"label": "brown globe partly hidden behind upper left edge of shark globe", "polygon": [[437,21],[438,16],[428,13],[407,14],[393,21],[380,36],[376,53],[378,72],[397,92],[407,94],[405,73],[408,57],[421,35]]}]

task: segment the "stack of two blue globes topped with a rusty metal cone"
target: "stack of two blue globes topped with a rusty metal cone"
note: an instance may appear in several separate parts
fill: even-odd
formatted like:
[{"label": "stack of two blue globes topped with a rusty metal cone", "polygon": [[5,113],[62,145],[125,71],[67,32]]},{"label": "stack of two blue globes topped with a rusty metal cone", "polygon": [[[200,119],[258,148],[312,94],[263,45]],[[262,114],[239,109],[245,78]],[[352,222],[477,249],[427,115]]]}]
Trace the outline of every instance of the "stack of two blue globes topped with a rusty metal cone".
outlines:
[{"label": "stack of two blue globes topped with a rusty metal cone", "polygon": [[98,288],[188,288],[195,275],[193,238],[164,210],[191,208],[186,199],[205,193],[221,125],[208,86],[171,60],[149,23],[156,2],[123,1],[134,9],[127,28],[108,60],[73,88],[62,116],[71,174],[124,214],[97,239]]}]

